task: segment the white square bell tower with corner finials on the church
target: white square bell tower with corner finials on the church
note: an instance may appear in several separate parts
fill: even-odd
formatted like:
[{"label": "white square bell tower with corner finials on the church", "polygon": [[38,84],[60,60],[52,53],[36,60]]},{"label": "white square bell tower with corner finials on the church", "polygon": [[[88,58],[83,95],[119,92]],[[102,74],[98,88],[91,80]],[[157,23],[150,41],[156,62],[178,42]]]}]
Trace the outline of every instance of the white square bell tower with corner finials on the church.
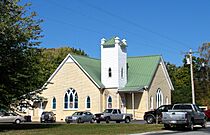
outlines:
[{"label": "white square bell tower with corner finials on the church", "polygon": [[101,39],[101,82],[105,88],[122,88],[127,83],[127,43],[119,37]]}]

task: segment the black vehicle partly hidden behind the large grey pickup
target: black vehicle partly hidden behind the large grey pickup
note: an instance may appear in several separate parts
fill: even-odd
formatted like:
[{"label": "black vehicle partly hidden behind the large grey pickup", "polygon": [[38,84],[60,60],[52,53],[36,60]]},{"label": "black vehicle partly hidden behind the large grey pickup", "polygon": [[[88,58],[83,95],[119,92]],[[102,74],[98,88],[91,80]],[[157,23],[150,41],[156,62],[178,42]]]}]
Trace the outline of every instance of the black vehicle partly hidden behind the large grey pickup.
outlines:
[{"label": "black vehicle partly hidden behind the large grey pickup", "polygon": [[148,111],[144,113],[144,120],[148,124],[156,123],[156,119],[158,118],[158,123],[161,122],[162,112],[168,112],[168,110],[172,109],[173,105],[162,105],[153,111]]}]

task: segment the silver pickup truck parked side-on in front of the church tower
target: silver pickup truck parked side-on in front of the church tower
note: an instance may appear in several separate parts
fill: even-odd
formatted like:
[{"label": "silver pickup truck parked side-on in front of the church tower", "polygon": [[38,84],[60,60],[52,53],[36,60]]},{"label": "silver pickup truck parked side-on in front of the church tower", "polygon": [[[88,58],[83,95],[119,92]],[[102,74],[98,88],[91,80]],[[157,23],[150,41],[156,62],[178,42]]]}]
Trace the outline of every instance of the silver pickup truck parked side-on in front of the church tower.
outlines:
[{"label": "silver pickup truck parked side-on in front of the church tower", "polygon": [[106,123],[109,123],[109,121],[116,121],[116,123],[124,121],[125,123],[130,123],[133,119],[133,115],[121,113],[120,109],[105,109],[103,113],[95,114],[94,119],[97,123],[100,123],[100,121],[106,121]]}]

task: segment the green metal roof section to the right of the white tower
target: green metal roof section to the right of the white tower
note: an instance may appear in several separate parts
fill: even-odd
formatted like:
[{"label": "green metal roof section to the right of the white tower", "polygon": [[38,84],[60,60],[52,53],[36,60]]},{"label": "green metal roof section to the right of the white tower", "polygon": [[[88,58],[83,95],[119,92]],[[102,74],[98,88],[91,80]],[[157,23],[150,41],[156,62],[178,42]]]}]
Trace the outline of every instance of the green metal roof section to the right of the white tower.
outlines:
[{"label": "green metal roof section to the right of the white tower", "polygon": [[149,87],[160,60],[160,55],[129,57],[128,82],[119,91],[141,91],[145,86]]}]

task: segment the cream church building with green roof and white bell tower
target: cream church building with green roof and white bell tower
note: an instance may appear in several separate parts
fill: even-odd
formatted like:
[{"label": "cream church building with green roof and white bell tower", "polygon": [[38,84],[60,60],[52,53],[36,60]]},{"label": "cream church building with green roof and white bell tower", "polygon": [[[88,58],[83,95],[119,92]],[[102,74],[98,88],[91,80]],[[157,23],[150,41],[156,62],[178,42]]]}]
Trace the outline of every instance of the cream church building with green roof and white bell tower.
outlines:
[{"label": "cream church building with green roof and white bell tower", "polygon": [[127,56],[126,40],[101,39],[101,59],[68,54],[47,80],[31,112],[39,121],[43,111],[53,111],[64,121],[75,111],[93,114],[119,108],[143,119],[145,111],[171,103],[173,85],[162,56]]}]

